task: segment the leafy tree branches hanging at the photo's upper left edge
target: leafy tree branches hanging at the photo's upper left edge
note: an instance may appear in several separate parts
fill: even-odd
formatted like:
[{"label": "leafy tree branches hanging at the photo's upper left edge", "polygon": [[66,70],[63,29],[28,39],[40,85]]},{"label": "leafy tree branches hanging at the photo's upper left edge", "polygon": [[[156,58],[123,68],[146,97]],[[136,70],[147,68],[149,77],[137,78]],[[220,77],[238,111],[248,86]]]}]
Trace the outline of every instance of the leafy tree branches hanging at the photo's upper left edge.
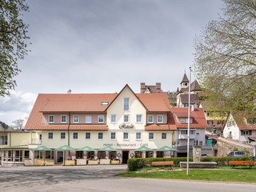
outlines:
[{"label": "leafy tree branches hanging at the photo's upper left edge", "polygon": [[15,88],[18,60],[28,54],[28,25],[20,19],[28,8],[25,0],[0,0],[0,96]]}]

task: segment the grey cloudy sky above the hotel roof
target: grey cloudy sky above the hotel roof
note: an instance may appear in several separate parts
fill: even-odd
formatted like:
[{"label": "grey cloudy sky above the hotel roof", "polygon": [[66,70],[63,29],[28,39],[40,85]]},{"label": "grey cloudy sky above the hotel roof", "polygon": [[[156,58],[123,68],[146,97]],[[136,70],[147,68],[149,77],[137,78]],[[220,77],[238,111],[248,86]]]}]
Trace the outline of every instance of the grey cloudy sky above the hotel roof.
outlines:
[{"label": "grey cloudy sky above the hotel roof", "polygon": [[[31,0],[23,13],[30,53],[19,61],[0,121],[26,121],[39,93],[113,93],[126,84],[176,91],[193,42],[222,13],[221,0]],[[191,80],[194,80],[193,72]]]}]

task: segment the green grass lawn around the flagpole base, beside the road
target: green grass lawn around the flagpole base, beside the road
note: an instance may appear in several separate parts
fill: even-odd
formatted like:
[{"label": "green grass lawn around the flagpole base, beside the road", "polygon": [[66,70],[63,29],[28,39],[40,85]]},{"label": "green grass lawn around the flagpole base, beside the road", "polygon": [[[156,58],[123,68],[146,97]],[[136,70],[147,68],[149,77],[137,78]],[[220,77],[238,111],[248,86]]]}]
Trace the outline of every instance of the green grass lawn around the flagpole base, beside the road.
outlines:
[{"label": "green grass lawn around the flagpole base, beside the road", "polygon": [[256,167],[218,167],[217,169],[190,169],[174,167],[173,170],[163,171],[164,168],[153,169],[145,167],[139,171],[121,173],[118,176],[159,178],[159,179],[188,179],[218,182],[248,182],[256,183]]}]

